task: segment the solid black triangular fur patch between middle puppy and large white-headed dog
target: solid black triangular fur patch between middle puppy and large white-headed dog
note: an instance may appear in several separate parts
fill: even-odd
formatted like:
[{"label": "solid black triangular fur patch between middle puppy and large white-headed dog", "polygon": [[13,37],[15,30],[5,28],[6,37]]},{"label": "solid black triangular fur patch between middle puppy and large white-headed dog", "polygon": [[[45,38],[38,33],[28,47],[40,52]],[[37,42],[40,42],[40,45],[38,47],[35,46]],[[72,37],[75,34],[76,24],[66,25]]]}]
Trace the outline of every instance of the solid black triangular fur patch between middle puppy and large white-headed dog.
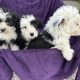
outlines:
[{"label": "solid black triangular fur patch between middle puppy and large white-headed dog", "polygon": [[39,34],[37,38],[32,40],[28,46],[28,49],[48,49],[53,47],[54,45],[45,41],[42,34]]}]

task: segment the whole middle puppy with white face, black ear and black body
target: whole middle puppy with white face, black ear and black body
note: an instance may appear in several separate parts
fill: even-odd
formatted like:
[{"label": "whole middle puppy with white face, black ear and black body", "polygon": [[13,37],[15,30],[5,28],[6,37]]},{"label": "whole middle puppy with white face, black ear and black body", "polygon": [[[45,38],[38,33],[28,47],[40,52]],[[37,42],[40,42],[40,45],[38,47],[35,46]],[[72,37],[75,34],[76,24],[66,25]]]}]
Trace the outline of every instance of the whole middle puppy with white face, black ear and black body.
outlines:
[{"label": "whole middle puppy with white face, black ear and black body", "polygon": [[17,39],[20,49],[25,49],[39,35],[40,21],[33,15],[23,15],[20,19],[21,33]]}]

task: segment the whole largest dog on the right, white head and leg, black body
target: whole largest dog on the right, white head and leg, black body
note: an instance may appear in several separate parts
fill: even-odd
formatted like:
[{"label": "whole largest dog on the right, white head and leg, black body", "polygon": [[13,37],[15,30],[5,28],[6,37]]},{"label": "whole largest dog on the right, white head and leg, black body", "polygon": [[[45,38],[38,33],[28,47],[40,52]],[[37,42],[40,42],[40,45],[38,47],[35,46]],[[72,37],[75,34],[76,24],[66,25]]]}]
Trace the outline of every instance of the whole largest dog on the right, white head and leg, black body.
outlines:
[{"label": "whole largest dog on the right, white head and leg, black body", "polygon": [[[60,7],[48,20],[43,33],[32,40],[29,49],[57,48],[70,61],[74,50],[70,47],[71,36],[80,35],[80,14],[74,6]],[[54,47],[55,46],[55,47]]]}]

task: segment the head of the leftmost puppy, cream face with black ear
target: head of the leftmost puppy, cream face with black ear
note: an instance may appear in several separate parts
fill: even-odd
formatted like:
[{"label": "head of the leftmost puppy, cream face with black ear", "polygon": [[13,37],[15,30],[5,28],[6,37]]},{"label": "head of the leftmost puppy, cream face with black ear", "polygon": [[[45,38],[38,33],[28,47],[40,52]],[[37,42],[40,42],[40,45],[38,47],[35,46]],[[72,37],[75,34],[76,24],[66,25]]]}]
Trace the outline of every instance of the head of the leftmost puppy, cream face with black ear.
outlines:
[{"label": "head of the leftmost puppy, cream face with black ear", "polygon": [[0,11],[0,39],[9,42],[12,39],[17,38],[16,27],[17,19],[16,15],[10,12]]}]

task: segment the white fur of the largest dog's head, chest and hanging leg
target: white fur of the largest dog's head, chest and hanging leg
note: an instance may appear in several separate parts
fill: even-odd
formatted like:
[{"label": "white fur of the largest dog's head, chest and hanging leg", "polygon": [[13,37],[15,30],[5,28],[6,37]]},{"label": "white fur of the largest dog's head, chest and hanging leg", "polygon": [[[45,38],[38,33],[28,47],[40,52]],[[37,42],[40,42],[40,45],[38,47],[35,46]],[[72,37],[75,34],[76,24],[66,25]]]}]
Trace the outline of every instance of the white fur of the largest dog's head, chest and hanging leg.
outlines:
[{"label": "white fur of the largest dog's head, chest and hanging leg", "polygon": [[62,51],[64,58],[70,61],[74,50],[70,47],[71,36],[80,35],[80,14],[76,7],[64,5],[56,10],[47,22],[45,31],[54,38],[53,45]]}]

